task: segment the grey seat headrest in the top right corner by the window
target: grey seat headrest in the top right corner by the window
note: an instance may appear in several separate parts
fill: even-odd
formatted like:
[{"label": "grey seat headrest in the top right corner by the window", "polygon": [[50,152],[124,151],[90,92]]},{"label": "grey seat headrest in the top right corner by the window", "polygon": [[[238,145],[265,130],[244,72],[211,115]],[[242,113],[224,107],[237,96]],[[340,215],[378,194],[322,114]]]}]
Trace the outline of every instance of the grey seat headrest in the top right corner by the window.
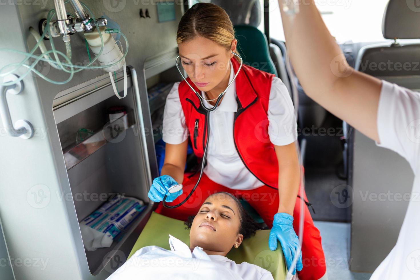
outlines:
[{"label": "grey seat headrest in the top right corner by the window", "polygon": [[417,0],[389,0],[382,19],[386,39],[420,39],[420,5]]}]

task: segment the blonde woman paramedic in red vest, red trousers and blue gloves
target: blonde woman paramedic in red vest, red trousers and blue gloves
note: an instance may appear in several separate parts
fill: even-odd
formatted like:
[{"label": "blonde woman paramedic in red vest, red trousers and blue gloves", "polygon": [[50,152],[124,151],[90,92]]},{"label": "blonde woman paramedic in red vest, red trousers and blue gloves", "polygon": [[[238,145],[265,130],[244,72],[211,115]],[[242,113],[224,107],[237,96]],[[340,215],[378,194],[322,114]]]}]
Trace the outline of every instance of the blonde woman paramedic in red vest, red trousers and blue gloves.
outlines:
[{"label": "blonde woman paramedic in red vest, red trousers and blue gloves", "polygon": [[[240,59],[233,54],[237,41],[232,23],[217,5],[198,3],[187,10],[178,25],[177,42],[188,79],[176,83],[166,100],[165,161],[161,176],[149,191],[152,201],[162,201],[177,182],[183,182],[184,189],[168,195],[166,202],[178,204],[191,192],[199,174],[184,176],[188,135],[194,153],[202,158],[207,145],[203,105],[215,106],[214,100],[237,76],[210,114],[207,165],[199,187],[180,207],[168,209],[160,203],[156,212],[187,220],[208,195],[219,191],[234,194],[248,201],[271,228],[268,248],[276,250],[280,241],[291,268],[299,248],[299,197],[306,199],[306,195],[299,193],[298,197],[297,124],[286,86],[274,75],[240,67]],[[213,101],[200,103],[187,82]],[[326,277],[321,237],[307,207],[304,211],[302,256],[289,271],[299,271],[302,280],[320,279]]]}]

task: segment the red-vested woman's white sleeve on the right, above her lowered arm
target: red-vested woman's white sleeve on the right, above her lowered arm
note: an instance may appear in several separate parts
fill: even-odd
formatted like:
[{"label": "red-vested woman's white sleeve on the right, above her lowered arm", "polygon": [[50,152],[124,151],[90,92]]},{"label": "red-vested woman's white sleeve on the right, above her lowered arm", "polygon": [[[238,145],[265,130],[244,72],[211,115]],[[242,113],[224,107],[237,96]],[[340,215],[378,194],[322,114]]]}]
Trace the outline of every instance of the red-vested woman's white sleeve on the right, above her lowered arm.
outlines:
[{"label": "red-vested woman's white sleeve on the right, above her lowered arm", "polygon": [[267,116],[271,143],[284,146],[296,141],[297,123],[293,103],[286,86],[277,77],[271,82]]}]

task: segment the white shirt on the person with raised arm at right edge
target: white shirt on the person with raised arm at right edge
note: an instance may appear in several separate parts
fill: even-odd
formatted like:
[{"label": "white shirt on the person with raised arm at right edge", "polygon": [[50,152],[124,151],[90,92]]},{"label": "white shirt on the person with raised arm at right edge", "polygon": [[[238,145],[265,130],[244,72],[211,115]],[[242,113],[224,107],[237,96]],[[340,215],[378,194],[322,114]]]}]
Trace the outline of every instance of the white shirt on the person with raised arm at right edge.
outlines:
[{"label": "white shirt on the person with raised arm at right edge", "polygon": [[[382,81],[378,105],[378,146],[391,149],[415,173],[412,194],[420,192],[420,93]],[[415,198],[417,196],[412,196]],[[420,202],[410,200],[398,240],[370,280],[420,279]]]}]

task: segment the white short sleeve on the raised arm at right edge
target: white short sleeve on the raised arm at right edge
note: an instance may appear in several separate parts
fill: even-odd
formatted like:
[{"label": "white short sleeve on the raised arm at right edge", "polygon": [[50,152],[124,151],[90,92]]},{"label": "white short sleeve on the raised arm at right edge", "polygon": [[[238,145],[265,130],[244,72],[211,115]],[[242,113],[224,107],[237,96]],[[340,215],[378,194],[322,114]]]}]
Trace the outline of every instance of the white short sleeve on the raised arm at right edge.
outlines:
[{"label": "white short sleeve on the raised arm at right edge", "polygon": [[380,147],[397,152],[413,170],[420,157],[420,94],[382,81],[377,116]]}]

